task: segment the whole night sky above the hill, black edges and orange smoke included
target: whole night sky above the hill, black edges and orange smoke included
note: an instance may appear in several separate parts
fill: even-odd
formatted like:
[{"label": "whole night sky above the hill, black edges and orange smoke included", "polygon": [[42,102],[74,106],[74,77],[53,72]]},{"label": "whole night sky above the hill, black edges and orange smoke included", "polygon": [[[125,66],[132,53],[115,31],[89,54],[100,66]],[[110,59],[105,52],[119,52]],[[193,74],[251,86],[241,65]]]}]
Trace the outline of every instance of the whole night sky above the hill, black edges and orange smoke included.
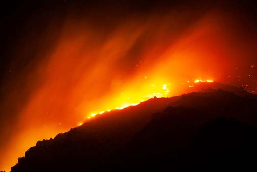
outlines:
[{"label": "whole night sky above the hill, black edges and orange smoke included", "polygon": [[[0,170],[95,111],[212,79],[257,93],[255,1],[1,2]],[[3,151],[2,151],[3,150]]]}]

